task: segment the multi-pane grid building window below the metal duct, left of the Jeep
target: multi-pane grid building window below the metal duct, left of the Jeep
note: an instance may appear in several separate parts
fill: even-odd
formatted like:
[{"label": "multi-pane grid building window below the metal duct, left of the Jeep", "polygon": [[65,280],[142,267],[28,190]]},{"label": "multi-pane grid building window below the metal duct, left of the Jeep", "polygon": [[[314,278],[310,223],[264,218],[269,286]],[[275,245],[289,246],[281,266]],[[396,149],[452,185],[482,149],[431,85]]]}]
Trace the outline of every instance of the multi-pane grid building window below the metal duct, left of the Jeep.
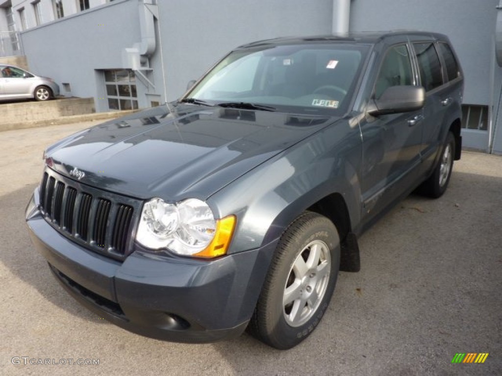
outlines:
[{"label": "multi-pane grid building window below the metal duct, left of the Jeep", "polygon": [[110,110],[133,110],[138,108],[136,76],[130,69],[104,71],[106,96]]}]

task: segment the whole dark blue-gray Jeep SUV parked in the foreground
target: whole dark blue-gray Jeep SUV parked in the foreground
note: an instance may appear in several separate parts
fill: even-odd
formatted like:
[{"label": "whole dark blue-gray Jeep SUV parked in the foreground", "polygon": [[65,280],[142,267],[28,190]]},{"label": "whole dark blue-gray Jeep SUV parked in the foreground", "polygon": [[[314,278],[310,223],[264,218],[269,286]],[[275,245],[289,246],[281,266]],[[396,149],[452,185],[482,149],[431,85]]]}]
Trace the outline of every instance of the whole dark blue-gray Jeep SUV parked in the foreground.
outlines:
[{"label": "whole dark blue-gray Jeep SUV parked in the foreground", "polygon": [[433,33],[239,47],[178,101],[45,151],[26,211],[61,284],[146,336],[206,342],[247,327],[305,339],[357,236],[460,158],[463,79]]}]

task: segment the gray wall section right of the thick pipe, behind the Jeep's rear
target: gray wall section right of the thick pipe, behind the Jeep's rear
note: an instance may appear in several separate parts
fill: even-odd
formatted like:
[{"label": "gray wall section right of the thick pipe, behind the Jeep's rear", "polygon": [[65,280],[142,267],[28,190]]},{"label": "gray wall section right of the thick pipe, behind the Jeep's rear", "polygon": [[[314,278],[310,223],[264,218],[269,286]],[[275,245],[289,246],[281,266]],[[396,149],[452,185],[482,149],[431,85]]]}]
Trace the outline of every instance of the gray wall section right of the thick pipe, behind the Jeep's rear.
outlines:
[{"label": "gray wall section right of the thick pipe, behind the Jeep's rear", "polygon": [[[464,70],[463,102],[494,105],[495,121],[502,85],[502,68],[494,64],[492,40],[496,5],[498,0],[352,0],[350,31],[418,29],[448,35]],[[493,123],[497,132],[502,128],[501,117],[498,124]],[[488,132],[463,129],[462,133],[465,146],[488,149]]]}]

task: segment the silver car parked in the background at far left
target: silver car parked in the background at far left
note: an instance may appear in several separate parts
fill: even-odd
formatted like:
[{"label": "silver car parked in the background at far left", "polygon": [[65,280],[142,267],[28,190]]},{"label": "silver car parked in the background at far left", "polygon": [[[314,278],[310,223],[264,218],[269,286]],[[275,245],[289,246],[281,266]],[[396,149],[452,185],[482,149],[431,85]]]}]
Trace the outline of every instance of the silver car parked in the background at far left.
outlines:
[{"label": "silver car parked in the background at far left", "polygon": [[58,95],[59,86],[52,78],[0,64],[0,101],[24,98],[46,101]]}]

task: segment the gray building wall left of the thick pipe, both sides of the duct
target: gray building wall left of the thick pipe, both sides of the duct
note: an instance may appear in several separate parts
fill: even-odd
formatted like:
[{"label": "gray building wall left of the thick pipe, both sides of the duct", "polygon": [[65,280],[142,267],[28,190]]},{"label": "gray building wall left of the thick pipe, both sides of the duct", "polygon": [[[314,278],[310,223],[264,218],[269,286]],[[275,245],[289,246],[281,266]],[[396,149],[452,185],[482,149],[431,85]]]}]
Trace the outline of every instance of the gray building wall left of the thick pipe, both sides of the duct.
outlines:
[{"label": "gray building wall left of the thick pipe, both sides of the duct", "polygon": [[[302,0],[158,3],[158,43],[149,76],[155,89],[145,95],[147,87],[137,80],[140,107],[151,100],[162,103],[178,98],[189,80],[200,77],[238,45],[279,36],[326,34],[332,27],[332,0],[315,0],[308,7]],[[104,111],[107,103],[102,99],[99,70],[122,68],[122,50],[140,42],[138,0],[116,0],[30,29],[21,37],[35,73],[52,77],[59,85],[70,83],[71,95],[93,96],[96,111]]]}]

